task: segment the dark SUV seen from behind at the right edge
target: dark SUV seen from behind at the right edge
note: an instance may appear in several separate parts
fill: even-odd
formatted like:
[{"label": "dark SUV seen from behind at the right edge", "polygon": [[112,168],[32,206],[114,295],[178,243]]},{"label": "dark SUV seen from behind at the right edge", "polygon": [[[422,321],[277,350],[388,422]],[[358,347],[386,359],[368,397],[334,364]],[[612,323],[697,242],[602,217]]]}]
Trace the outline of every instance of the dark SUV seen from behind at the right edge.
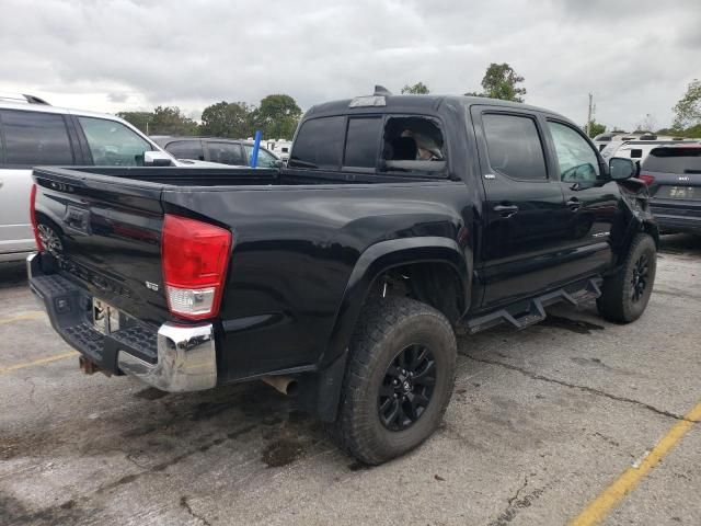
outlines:
[{"label": "dark SUV seen from behind at the right edge", "polygon": [[701,235],[701,142],[653,149],[639,178],[648,186],[651,209],[665,233]]}]

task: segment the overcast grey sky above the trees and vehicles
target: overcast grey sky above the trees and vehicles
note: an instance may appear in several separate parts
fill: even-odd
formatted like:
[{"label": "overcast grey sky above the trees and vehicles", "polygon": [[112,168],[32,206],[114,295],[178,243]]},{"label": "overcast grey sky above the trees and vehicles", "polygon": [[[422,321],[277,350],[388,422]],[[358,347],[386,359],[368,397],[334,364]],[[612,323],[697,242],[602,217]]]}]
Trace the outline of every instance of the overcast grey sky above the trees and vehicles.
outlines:
[{"label": "overcast grey sky above the trees and vehicles", "polygon": [[526,102],[657,127],[701,78],[701,1],[0,0],[0,91],[118,112],[288,93],[302,108],[423,81],[480,89],[490,62]]}]

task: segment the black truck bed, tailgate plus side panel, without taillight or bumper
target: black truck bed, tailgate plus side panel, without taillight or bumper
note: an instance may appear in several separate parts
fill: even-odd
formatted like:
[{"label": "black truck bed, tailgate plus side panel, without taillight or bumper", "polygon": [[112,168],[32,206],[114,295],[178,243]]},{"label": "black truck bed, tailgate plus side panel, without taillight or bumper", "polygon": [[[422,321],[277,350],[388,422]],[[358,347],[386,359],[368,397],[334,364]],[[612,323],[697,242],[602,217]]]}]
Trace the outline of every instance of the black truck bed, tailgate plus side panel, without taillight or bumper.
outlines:
[{"label": "black truck bed, tailgate plus side panel, without taillight or bumper", "polygon": [[462,214],[472,214],[464,209],[470,191],[458,181],[324,178],[284,170],[37,168],[36,216],[61,240],[53,252],[62,277],[153,328],[181,322],[163,291],[164,217],[231,231],[216,334],[228,342],[221,366],[234,380],[315,367],[368,247],[414,237],[455,243]]}]

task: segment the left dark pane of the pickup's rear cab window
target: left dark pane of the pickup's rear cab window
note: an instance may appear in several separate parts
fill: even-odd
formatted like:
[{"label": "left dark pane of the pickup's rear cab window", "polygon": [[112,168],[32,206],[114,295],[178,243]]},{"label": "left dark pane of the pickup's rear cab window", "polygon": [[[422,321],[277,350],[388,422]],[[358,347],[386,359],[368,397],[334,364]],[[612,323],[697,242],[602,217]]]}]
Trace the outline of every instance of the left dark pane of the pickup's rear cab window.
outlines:
[{"label": "left dark pane of the pickup's rear cab window", "polygon": [[311,118],[297,133],[290,168],[338,169],[343,155],[344,116]]}]

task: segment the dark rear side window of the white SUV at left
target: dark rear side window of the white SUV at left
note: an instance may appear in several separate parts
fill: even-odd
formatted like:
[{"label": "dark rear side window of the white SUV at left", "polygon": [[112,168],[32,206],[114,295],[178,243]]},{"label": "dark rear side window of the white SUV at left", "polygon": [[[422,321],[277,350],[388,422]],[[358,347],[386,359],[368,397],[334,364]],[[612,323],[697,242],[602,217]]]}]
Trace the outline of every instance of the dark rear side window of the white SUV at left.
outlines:
[{"label": "dark rear side window of the white SUV at left", "polygon": [[68,129],[61,115],[3,110],[0,121],[8,165],[74,163]]}]

